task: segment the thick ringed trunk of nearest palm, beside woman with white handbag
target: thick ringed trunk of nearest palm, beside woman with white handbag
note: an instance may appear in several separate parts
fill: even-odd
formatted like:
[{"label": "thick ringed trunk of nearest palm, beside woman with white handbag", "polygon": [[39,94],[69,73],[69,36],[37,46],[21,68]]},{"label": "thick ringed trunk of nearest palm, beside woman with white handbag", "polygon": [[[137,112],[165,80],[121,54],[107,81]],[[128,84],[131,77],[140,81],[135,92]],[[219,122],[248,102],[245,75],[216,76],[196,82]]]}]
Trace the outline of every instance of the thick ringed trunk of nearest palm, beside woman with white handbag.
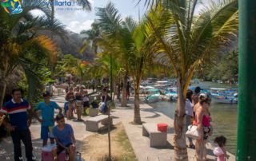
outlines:
[{"label": "thick ringed trunk of nearest palm, beside woman with white handbag", "polygon": [[178,104],[174,116],[174,160],[187,161],[186,151],[186,98],[183,96],[184,85],[182,79],[178,79]]}]

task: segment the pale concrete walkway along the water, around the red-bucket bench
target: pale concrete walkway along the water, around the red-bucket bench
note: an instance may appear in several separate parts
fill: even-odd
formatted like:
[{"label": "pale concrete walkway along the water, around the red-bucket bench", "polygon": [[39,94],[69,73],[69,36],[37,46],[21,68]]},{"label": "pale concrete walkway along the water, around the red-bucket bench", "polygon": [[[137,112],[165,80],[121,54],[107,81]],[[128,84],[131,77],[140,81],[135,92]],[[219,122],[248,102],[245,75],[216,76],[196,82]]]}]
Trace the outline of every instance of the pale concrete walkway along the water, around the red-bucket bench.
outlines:
[{"label": "pale concrete walkway along the water, around the red-bucket bench", "polygon": [[[120,104],[117,104],[120,105]],[[141,118],[142,121],[146,123],[164,123],[168,124],[167,141],[169,142],[166,148],[154,148],[150,147],[150,139],[148,137],[142,136],[142,125],[130,124],[134,118],[134,108],[133,104],[129,104],[129,108],[118,107],[112,112],[114,116],[118,117],[118,120],[122,121],[126,129],[126,134],[130,139],[130,143],[134,148],[134,152],[138,157],[138,160],[174,160],[174,120],[170,119],[168,116],[162,114],[161,112],[155,112],[154,108],[150,107],[148,104],[141,104]],[[216,160],[212,153],[213,146],[210,143],[206,144],[207,147],[207,158],[210,160]],[[195,160],[193,149],[187,148],[189,160]],[[230,161],[235,160],[234,155],[230,155]]]}]

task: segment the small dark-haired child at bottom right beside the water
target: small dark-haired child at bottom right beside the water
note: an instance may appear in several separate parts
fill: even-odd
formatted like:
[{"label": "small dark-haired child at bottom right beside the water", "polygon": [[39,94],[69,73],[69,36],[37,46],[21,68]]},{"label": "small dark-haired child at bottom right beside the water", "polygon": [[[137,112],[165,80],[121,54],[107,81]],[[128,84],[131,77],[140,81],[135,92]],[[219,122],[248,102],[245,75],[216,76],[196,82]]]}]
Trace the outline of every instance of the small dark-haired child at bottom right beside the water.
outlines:
[{"label": "small dark-haired child at bottom right beside the water", "polygon": [[218,136],[214,139],[214,143],[218,144],[218,147],[214,148],[214,155],[218,156],[217,161],[226,161],[229,155],[226,155],[226,137]]}]

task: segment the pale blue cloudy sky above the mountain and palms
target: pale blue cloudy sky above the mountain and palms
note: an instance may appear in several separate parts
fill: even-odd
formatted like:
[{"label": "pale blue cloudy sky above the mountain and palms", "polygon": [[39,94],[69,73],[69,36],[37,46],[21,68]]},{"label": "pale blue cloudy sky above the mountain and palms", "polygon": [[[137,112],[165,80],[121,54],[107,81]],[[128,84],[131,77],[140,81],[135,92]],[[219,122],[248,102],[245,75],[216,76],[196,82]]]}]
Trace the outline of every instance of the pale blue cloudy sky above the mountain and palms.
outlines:
[{"label": "pale blue cloudy sky above the mountain and palms", "polygon": [[[70,29],[74,33],[80,33],[83,29],[90,29],[91,24],[96,19],[95,9],[97,7],[105,7],[108,2],[113,2],[114,6],[118,9],[122,18],[132,16],[135,20],[138,20],[139,15],[142,15],[146,11],[144,1],[138,4],[138,0],[89,0],[92,5],[91,11],[83,10],[78,4],[74,4],[76,0],[54,0],[55,4],[55,18],[61,21],[66,29]],[[208,0],[202,0],[207,2]],[[59,6],[59,2],[73,2],[74,6]],[[63,3],[62,3],[63,4]],[[199,6],[201,8],[202,6]],[[38,11],[34,11],[38,14]]]}]

